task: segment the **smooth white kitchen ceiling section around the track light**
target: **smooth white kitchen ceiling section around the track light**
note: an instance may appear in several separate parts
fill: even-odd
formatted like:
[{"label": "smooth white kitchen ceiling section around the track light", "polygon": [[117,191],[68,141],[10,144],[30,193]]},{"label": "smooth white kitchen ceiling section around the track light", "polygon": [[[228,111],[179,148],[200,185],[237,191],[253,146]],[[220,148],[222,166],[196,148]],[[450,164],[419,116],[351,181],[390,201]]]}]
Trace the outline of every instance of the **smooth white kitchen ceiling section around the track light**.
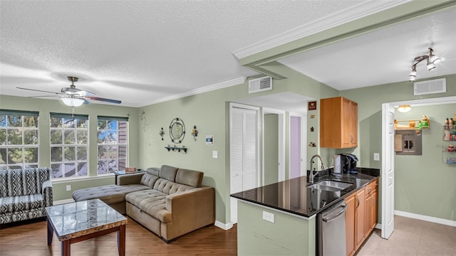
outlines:
[{"label": "smooth white kitchen ceiling section around the track light", "polygon": [[417,80],[456,73],[456,9],[415,18],[279,60],[337,90],[408,81],[414,58],[432,47],[442,61],[428,71],[417,65]]}]

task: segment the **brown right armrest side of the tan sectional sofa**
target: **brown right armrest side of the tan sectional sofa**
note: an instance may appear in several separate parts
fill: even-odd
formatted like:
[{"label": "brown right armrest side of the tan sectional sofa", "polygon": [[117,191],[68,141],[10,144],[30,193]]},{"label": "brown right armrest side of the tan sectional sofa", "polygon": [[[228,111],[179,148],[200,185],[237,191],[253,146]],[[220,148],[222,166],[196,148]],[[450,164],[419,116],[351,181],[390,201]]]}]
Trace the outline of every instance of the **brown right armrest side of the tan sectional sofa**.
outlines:
[{"label": "brown right armrest side of the tan sectional sofa", "polygon": [[209,225],[215,222],[215,189],[202,186],[166,197],[166,210],[172,222],[180,225]]}]

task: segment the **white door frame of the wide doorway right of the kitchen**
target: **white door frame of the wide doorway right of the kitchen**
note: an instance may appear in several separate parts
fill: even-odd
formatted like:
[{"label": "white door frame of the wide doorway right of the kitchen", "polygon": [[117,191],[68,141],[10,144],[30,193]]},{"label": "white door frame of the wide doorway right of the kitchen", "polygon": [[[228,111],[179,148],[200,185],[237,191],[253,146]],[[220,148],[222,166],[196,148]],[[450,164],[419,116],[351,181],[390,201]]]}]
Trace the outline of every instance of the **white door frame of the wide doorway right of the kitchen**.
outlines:
[{"label": "white door frame of the wide doorway right of the kitchen", "polygon": [[[429,98],[429,99],[423,99],[423,100],[404,100],[404,101],[400,101],[400,102],[388,102],[388,103],[384,103],[383,105],[385,106],[388,106],[388,107],[398,107],[399,105],[404,105],[404,104],[408,104],[410,105],[411,107],[415,106],[415,107],[418,107],[418,106],[425,106],[425,105],[441,105],[441,104],[450,104],[450,103],[454,103],[456,102],[456,96],[450,96],[450,97],[436,97],[436,98]],[[388,113],[385,113],[385,109],[388,110],[388,107],[382,107],[382,117],[385,117],[385,114],[388,114]],[[385,118],[382,118],[382,145],[385,144],[385,139],[388,138],[388,129],[384,129],[384,127],[387,126],[387,124],[385,124],[385,121],[386,119]],[[389,145],[390,148],[389,149],[385,149],[383,148],[382,146],[382,156],[383,158],[385,157],[388,157],[388,151],[387,150],[390,150],[390,151],[394,151],[394,144],[392,145]],[[392,154],[392,156],[394,157],[394,154]],[[383,184],[387,184],[388,182],[388,177],[385,176],[383,174],[383,171],[385,170],[385,167],[386,166],[383,166],[383,163],[385,163],[385,161],[387,161],[386,159],[384,159],[382,161],[382,175],[381,175],[381,182],[382,182],[382,198],[384,197],[383,196],[383,187],[384,185]],[[393,195],[394,198],[394,193]],[[385,212],[385,200],[382,199],[382,213],[381,213],[381,220],[382,220],[382,223],[381,223],[381,228],[382,228],[382,238],[385,238],[385,234],[384,234],[384,228],[385,228],[385,223],[383,220],[386,219],[386,212]],[[394,212],[394,209],[391,209],[393,210]],[[394,214],[394,213],[393,213]],[[386,238],[388,239],[388,238]]]}]

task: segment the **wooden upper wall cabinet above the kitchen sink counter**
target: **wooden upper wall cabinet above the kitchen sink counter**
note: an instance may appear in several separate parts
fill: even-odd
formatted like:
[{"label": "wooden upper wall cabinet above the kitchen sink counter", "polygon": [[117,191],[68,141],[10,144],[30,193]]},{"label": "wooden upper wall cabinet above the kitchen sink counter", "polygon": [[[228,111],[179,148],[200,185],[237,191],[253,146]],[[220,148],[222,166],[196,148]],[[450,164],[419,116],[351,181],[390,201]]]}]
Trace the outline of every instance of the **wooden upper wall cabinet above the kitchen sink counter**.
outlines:
[{"label": "wooden upper wall cabinet above the kitchen sink counter", "polygon": [[358,103],[345,97],[320,100],[320,146],[345,149],[358,146]]}]

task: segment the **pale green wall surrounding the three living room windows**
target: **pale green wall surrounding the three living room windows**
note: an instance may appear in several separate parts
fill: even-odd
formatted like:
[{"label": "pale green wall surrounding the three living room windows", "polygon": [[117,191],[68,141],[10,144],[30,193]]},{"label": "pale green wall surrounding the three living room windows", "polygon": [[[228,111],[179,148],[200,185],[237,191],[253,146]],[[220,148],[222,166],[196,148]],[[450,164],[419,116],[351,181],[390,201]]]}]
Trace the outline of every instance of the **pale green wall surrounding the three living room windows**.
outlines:
[{"label": "pale green wall surrounding the three living room windows", "polygon": [[[38,134],[38,165],[51,166],[49,144],[49,113],[61,112],[71,114],[71,107],[63,105],[60,100],[43,100],[28,97],[14,97],[0,95],[0,108],[6,110],[30,110],[39,112]],[[75,114],[89,116],[89,148],[88,148],[88,175],[97,176],[97,116],[129,117],[128,129],[128,159],[129,165],[138,164],[138,110],[134,107],[119,107],[113,105],[89,104],[75,108]],[[53,181],[53,200],[59,201],[71,198],[73,191],[79,188],[90,188],[114,183],[113,174],[98,176],[97,178],[68,178],[65,181]],[[71,191],[66,191],[66,185],[71,185]]]}]

